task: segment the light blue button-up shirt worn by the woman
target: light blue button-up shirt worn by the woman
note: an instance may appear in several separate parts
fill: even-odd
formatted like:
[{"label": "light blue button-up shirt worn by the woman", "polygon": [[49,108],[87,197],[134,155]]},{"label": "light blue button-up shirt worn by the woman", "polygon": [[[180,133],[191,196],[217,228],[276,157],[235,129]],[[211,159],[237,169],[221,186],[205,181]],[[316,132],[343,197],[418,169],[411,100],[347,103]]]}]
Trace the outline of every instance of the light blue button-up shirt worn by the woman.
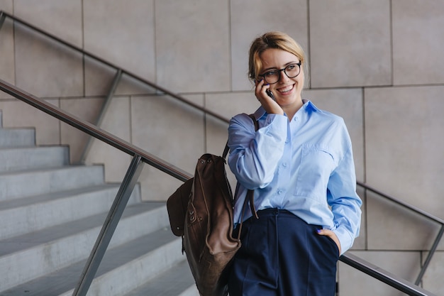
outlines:
[{"label": "light blue button-up shirt worn by the woman", "polygon": [[[238,180],[234,222],[239,223],[248,189],[257,210],[287,209],[308,224],[331,229],[341,252],[360,230],[362,201],[356,193],[355,164],[343,119],[310,101],[289,121],[286,115],[255,111],[255,131],[247,114],[228,127],[228,165]],[[245,209],[244,220],[252,216]]]}]

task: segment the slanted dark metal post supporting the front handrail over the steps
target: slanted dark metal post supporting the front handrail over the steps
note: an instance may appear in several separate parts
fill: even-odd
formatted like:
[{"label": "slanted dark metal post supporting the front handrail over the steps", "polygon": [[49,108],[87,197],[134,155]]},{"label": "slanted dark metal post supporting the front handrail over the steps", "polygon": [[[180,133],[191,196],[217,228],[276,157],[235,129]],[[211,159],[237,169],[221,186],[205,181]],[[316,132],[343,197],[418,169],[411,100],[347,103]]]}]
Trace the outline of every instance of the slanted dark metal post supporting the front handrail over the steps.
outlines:
[{"label": "slanted dark metal post supporting the front handrail over the steps", "polygon": [[88,261],[80,275],[79,282],[74,288],[72,296],[85,296],[91,286],[92,280],[96,275],[101,260],[104,258],[106,248],[109,246],[114,231],[116,230],[118,221],[120,221],[123,214],[123,210],[128,203],[128,199],[131,197],[131,193],[138,181],[140,172],[143,168],[143,162],[140,155],[135,155],[131,164],[126,172],[125,177],[121,183],[121,186],[114,199],[113,205],[109,210],[108,216],[102,226],[99,236],[97,237],[94,248],[89,255]]}]

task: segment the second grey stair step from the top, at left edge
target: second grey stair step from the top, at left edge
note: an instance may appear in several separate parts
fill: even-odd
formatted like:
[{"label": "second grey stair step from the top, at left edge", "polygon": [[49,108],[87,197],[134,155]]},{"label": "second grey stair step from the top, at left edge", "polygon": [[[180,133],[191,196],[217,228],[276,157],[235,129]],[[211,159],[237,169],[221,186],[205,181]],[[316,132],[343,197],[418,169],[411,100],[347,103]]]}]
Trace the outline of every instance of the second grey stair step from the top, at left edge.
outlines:
[{"label": "second grey stair step from the top, at left edge", "polygon": [[69,157],[63,146],[4,148],[0,150],[0,172],[56,168],[68,165]]}]

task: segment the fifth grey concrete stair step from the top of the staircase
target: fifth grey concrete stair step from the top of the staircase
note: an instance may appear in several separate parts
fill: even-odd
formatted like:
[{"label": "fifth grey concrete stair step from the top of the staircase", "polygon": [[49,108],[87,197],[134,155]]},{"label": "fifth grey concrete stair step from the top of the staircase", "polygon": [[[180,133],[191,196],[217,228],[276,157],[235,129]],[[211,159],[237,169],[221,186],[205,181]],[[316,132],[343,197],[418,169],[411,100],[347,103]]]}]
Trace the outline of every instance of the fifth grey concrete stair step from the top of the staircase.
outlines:
[{"label": "fifth grey concrete stair step from the top of the staircase", "polygon": [[[106,216],[107,213],[96,214],[0,241],[0,291],[87,258]],[[165,203],[128,206],[109,247],[166,229],[168,223]]]}]

